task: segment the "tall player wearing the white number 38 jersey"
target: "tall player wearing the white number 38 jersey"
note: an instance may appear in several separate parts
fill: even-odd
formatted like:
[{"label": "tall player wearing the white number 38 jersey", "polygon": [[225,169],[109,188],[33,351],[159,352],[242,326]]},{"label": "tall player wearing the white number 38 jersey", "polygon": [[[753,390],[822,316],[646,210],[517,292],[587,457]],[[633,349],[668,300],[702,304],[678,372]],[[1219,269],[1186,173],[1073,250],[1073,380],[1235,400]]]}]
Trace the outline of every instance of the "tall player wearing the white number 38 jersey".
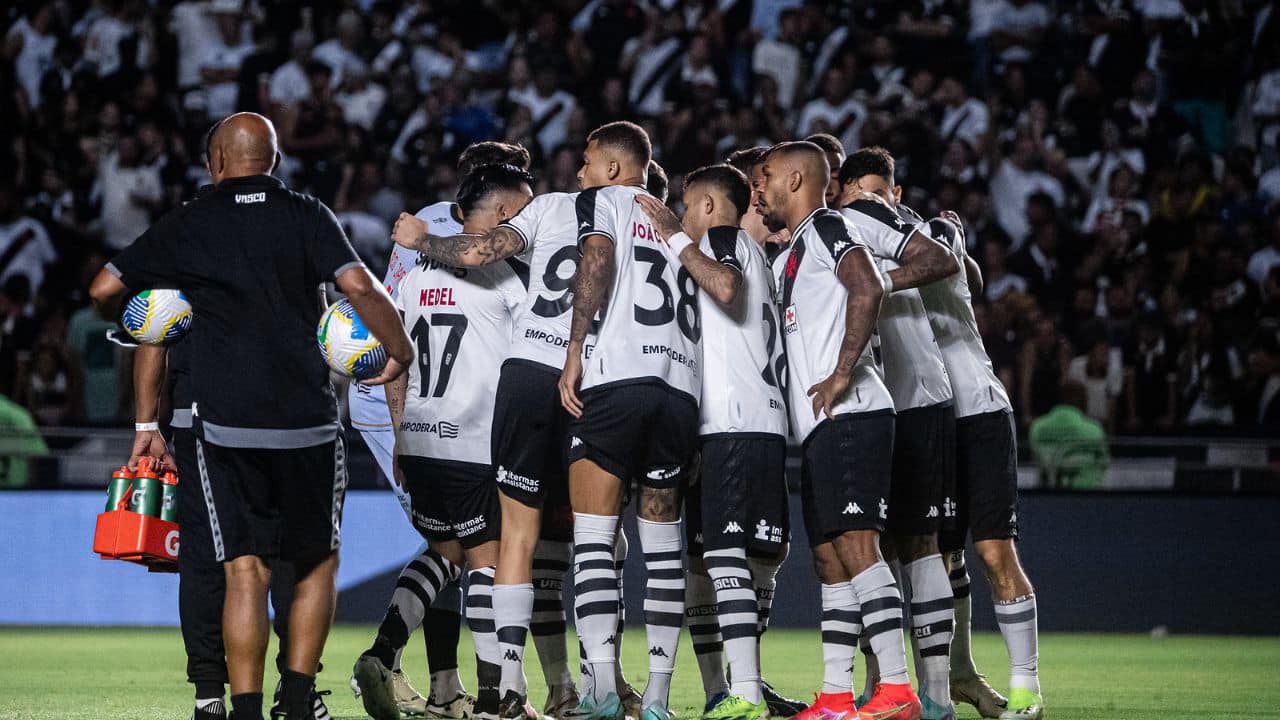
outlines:
[{"label": "tall player wearing the white number 38 jersey", "polygon": [[[635,202],[645,195],[650,155],[644,129],[609,123],[588,136],[579,170],[582,187],[593,190],[577,200],[582,260],[559,392],[575,418],[570,498],[576,610],[593,678],[579,711],[593,720],[622,715],[613,683],[618,571],[612,547],[622,483],[630,478],[641,488],[637,515],[648,574],[645,720],[671,717],[671,674],[684,623],[680,487],[698,433],[701,328],[696,284]],[[596,313],[602,322],[588,347]]]}]

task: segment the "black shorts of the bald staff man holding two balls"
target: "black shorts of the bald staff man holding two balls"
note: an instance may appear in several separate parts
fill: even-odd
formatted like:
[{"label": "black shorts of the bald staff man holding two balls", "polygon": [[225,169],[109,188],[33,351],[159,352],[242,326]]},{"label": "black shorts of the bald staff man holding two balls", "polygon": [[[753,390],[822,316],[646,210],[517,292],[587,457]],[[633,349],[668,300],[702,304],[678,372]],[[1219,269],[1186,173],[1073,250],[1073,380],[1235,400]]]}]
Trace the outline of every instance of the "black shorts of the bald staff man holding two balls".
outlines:
[{"label": "black shorts of the bald staff man holding two balls", "polygon": [[197,439],[196,464],[218,561],[256,555],[310,564],[342,544],[347,448],[340,433],[296,450]]}]

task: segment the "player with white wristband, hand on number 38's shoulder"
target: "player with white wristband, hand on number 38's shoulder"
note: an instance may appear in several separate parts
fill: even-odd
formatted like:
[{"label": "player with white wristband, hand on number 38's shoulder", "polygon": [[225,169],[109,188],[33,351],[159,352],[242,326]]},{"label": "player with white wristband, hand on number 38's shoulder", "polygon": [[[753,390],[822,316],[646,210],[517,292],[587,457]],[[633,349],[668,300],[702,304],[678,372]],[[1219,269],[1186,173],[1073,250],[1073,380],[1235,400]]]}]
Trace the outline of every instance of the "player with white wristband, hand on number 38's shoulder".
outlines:
[{"label": "player with white wristband, hand on number 38's shoulder", "polygon": [[[730,165],[685,178],[685,217],[637,196],[658,237],[700,288],[703,562],[714,580],[732,684],[707,720],[768,715],[760,684],[759,605],[748,550],[776,556],[786,542],[786,404],[773,281],[764,250],[739,228],[751,190]],[[692,238],[699,238],[694,241]],[[710,302],[703,302],[709,299]]]}]

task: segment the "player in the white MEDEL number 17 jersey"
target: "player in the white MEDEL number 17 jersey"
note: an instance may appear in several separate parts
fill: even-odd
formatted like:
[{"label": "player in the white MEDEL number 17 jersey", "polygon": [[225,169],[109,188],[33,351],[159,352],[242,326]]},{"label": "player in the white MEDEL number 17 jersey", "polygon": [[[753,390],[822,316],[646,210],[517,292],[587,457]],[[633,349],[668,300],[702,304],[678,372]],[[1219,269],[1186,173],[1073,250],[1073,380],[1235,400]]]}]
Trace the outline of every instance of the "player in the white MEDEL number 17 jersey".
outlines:
[{"label": "player in the white MEDEL number 17 jersey", "polygon": [[[488,232],[518,213],[532,196],[531,182],[513,165],[476,168],[458,188],[463,232]],[[401,281],[399,306],[417,363],[407,380],[387,393],[397,428],[396,477],[408,492],[413,525],[448,562],[462,565],[465,559],[468,566],[467,621],[479,676],[475,712],[489,717],[499,710],[493,620],[499,507],[488,429],[499,364],[524,299],[524,281],[512,264],[416,266]],[[361,700],[376,720],[399,717],[390,665],[407,639],[408,626],[393,603],[372,647],[356,661]]]}]

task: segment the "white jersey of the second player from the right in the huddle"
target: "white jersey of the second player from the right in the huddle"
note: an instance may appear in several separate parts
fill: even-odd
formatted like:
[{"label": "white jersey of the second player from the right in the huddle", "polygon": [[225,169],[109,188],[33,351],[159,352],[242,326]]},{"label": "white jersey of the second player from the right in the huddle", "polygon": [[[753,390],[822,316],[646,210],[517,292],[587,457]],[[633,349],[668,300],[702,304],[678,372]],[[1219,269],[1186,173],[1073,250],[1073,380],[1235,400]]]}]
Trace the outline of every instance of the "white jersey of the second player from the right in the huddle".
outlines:
[{"label": "white jersey of the second player from the right in the huddle", "polygon": [[[895,213],[872,200],[855,200],[841,214],[859,229],[882,273],[899,266],[897,260],[913,233],[927,236],[929,232],[928,224],[909,209]],[[896,410],[951,400],[951,380],[918,290],[890,293],[881,306],[877,331],[884,359],[884,384],[893,396]]]}]

